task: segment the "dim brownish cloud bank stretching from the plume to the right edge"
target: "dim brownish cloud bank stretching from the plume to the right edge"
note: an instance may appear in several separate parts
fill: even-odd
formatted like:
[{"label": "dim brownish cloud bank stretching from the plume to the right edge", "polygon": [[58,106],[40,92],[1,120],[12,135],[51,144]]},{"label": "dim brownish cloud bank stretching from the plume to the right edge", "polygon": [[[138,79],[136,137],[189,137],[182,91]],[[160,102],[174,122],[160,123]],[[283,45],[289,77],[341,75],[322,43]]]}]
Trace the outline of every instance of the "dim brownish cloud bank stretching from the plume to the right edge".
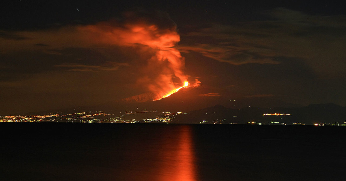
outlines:
[{"label": "dim brownish cloud bank stretching from the plume to the right edge", "polygon": [[190,41],[180,49],[231,64],[277,64],[278,56],[297,57],[321,76],[345,75],[346,53],[341,47],[346,46],[346,16],[308,15],[284,8],[266,15],[267,20],[212,23],[186,33]]}]

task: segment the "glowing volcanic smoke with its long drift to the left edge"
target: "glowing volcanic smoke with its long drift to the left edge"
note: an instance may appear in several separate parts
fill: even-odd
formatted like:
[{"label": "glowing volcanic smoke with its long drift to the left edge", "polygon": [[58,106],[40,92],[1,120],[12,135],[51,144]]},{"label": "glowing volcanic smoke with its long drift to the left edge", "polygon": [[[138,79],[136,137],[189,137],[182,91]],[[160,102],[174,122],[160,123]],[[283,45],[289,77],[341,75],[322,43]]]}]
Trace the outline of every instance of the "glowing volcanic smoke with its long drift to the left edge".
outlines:
[{"label": "glowing volcanic smoke with its long drift to the left edge", "polygon": [[0,49],[9,56],[26,51],[28,54],[33,52],[30,57],[35,61],[56,60],[45,61],[46,67],[42,70],[37,68],[36,72],[56,69],[100,72],[131,66],[135,72],[132,77],[136,77],[137,81],[129,84],[136,84],[134,87],[137,89],[140,87],[144,92],[153,93],[152,100],[181,87],[188,76],[184,73],[184,58],[175,48],[180,36],[168,14],[137,9],[123,16],[121,20],[89,25],[1,31],[3,43]]}]

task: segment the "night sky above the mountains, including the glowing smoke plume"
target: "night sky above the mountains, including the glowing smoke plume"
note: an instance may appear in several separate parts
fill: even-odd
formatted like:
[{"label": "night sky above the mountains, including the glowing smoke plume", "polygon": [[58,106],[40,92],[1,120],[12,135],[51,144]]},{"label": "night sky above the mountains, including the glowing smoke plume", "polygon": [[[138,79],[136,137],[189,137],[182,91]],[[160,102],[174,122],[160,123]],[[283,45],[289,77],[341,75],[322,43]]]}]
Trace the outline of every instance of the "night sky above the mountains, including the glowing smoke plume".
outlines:
[{"label": "night sky above the mountains, including the glowing smoke plume", "polygon": [[0,114],[158,94],[183,79],[198,79],[196,96],[211,99],[346,106],[345,9],[345,1],[2,1]]}]

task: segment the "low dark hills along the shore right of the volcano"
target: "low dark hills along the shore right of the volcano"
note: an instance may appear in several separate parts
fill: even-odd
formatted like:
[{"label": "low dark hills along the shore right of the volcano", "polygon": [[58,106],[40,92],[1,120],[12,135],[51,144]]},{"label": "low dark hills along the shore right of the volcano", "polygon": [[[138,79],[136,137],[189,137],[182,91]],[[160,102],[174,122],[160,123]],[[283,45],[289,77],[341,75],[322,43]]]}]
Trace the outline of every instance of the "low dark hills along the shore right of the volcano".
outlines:
[{"label": "low dark hills along the shore right of the volcano", "polygon": [[[292,114],[292,115],[263,115],[263,114]],[[178,114],[174,123],[216,123],[216,124],[245,124],[247,122],[262,124],[292,124],[304,123],[344,123],[346,122],[346,108],[336,104],[311,104],[302,108],[258,108],[246,107],[229,109],[216,105],[189,114]],[[279,122],[279,123],[277,123]]]}]

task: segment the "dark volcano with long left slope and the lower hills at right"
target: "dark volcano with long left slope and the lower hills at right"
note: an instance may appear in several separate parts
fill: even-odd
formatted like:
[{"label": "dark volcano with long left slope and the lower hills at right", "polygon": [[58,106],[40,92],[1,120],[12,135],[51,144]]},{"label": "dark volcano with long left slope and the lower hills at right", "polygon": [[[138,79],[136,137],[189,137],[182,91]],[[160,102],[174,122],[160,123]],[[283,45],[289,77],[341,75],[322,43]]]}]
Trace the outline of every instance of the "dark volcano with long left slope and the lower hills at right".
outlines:
[{"label": "dark volcano with long left slope and the lower hills at right", "polygon": [[[104,111],[120,114],[120,112],[124,111],[148,110],[157,111],[158,113],[189,112],[189,114],[176,114],[176,117],[172,121],[173,123],[245,124],[247,122],[254,122],[270,124],[271,122],[279,122],[292,124],[301,122],[314,124],[346,122],[346,108],[333,103],[311,104],[304,107],[302,105],[276,100],[273,97],[230,99],[203,86],[182,88],[171,96],[157,101],[148,101],[150,97],[152,95],[147,93],[117,101],[109,101],[96,106],[58,109],[29,114],[69,114],[89,111]],[[292,115],[263,116],[263,114],[267,113]]]}]

